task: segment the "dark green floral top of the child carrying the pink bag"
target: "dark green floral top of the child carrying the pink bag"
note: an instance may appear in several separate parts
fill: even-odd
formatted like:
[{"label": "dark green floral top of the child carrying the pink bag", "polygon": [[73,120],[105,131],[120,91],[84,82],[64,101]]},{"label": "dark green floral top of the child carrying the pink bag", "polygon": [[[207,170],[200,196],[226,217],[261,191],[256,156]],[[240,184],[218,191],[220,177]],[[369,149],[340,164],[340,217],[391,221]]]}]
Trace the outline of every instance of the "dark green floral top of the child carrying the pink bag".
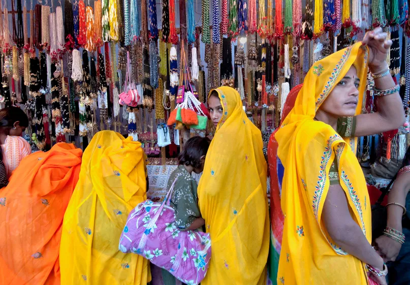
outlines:
[{"label": "dark green floral top of the child carrying the pink bag", "polygon": [[175,225],[183,230],[189,228],[196,218],[201,217],[198,209],[198,184],[186,169],[179,165],[168,179],[168,191],[176,177],[178,178],[171,196],[171,206],[175,210]]}]

